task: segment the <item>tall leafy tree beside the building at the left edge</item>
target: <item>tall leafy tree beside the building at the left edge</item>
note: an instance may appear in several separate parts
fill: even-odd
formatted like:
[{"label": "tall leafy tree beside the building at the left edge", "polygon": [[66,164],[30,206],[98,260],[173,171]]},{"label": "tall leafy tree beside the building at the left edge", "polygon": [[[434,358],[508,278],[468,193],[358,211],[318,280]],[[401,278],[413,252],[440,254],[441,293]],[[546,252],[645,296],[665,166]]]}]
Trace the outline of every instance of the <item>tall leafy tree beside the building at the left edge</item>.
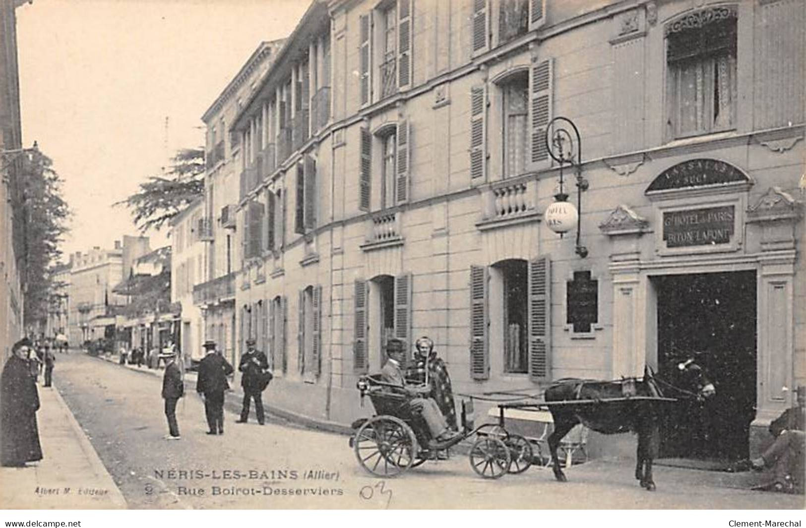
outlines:
[{"label": "tall leafy tree beside the building at the left edge", "polygon": [[61,178],[52,166],[52,160],[38,151],[23,163],[17,214],[23,218],[21,268],[26,326],[48,318],[55,286],[53,267],[61,256],[59,243],[68,231],[71,215],[61,196]]}]

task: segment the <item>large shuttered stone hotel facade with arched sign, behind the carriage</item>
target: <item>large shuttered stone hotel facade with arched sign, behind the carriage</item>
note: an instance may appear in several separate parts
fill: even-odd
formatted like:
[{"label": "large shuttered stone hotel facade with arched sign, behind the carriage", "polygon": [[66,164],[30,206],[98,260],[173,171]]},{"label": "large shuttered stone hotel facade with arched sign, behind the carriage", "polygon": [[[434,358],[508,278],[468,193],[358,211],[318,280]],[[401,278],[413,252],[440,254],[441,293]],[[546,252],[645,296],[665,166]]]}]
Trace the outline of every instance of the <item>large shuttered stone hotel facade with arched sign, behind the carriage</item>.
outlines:
[{"label": "large shuttered stone hotel facade with arched sign, behind the carriage", "polygon": [[[434,339],[456,393],[692,358],[717,397],[663,453],[755,452],[806,383],[804,11],[314,2],[229,125],[272,403],[350,423],[392,336]],[[561,177],[582,192],[558,116],[584,257],[544,225]]]}]

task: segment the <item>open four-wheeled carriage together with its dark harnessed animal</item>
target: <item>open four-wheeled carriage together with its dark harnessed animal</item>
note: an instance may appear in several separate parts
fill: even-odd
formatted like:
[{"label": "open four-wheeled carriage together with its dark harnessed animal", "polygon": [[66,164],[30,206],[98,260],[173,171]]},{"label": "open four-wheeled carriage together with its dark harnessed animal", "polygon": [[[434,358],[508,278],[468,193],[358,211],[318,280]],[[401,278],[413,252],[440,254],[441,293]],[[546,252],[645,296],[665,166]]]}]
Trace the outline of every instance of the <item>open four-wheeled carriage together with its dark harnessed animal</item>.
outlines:
[{"label": "open four-wheeled carriage together with its dark harnessed animal", "polygon": [[[672,373],[675,383],[655,377],[647,370],[643,378],[559,380],[541,394],[464,395],[461,434],[442,443],[431,438],[422,417],[411,410],[403,387],[386,383],[380,376],[362,376],[358,382],[362,403],[364,396],[369,396],[376,414],[353,422],[356,431],[350,445],[364,469],[375,476],[391,477],[428,460],[447,458],[451,447],[475,437],[469,452],[471,467],[483,478],[496,479],[506,473],[525,472],[534,461],[530,440],[506,429],[505,410],[548,410],[555,423],[547,443],[556,480],[566,480],[557,455],[560,441],[574,426],[584,423],[602,434],[628,431],[638,434],[635,477],[651,491],[655,489],[652,460],[657,456],[659,418],[667,414],[667,405],[678,401],[676,397],[665,396],[659,384],[678,397],[700,399],[714,392],[713,384],[692,360],[677,364]],[[475,426],[474,399],[496,401],[496,397],[498,422]]]}]

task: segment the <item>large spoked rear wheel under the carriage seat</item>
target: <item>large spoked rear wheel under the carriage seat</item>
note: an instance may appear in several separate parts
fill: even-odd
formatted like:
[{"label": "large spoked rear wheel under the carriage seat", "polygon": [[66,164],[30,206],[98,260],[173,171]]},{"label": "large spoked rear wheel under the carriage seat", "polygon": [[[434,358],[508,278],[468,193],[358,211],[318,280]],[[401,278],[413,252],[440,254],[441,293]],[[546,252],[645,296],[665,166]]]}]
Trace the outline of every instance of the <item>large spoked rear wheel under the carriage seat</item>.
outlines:
[{"label": "large spoked rear wheel under the carriage seat", "polygon": [[411,468],[416,451],[411,427],[393,416],[376,416],[355,433],[355,458],[375,476],[392,477]]}]

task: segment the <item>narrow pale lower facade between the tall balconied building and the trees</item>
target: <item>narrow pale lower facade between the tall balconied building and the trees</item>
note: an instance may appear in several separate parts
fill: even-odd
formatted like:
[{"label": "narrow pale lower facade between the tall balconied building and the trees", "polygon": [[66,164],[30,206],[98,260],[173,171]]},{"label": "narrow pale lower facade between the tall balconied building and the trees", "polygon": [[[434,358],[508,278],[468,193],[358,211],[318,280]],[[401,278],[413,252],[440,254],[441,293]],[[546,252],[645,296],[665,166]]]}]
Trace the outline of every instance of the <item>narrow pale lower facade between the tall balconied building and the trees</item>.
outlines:
[{"label": "narrow pale lower facade between the tall balconied building and the trees", "polygon": [[205,282],[207,252],[203,240],[212,237],[199,198],[171,220],[171,302],[181,306],[181,350],[185,367],[204,358],[202,310],[193,303],[193,287]]}]

